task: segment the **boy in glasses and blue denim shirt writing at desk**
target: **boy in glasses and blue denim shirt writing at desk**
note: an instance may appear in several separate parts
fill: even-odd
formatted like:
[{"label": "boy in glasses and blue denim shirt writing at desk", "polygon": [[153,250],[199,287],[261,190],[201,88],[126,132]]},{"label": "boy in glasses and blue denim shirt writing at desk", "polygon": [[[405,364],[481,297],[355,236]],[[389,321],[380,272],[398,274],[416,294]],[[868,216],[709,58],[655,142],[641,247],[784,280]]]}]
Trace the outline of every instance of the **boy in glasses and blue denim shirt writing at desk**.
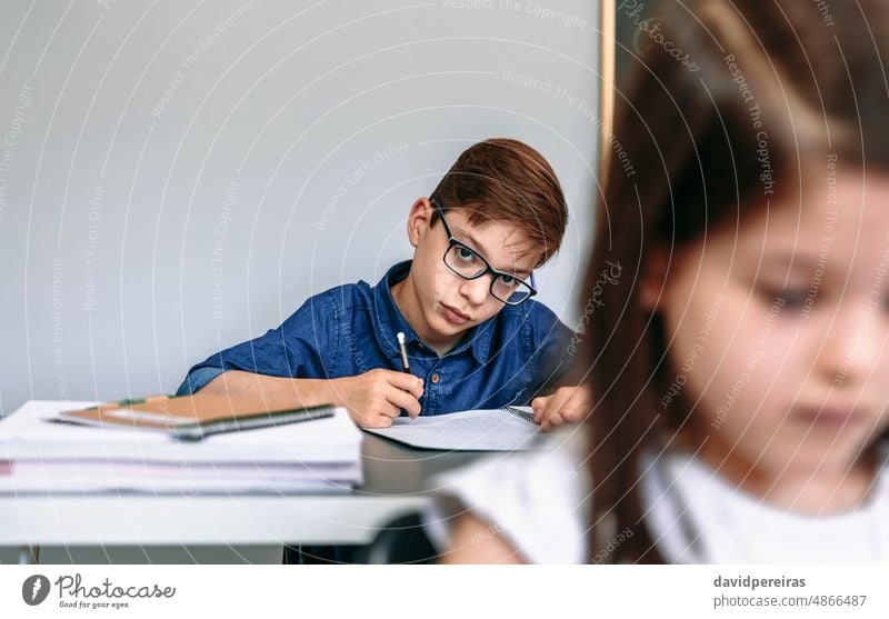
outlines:
[{"label": "boy in glasses and blue denim shirt writing at desk", "polygon": [[[373,288],[360,281],[310,298],[280,327],[211,356],[179,395],[261,397],[269,407],[343,406],[363,428],[407,411],[441,415],[531,402],[543,429],[578,421],[588,395],[563,387],[570,330],[537,293],[568,220],[549,163],[522,142],[466,150],[430,198],[410,209],[412,261]],[[401,368],[406,336],[411,373]]]}]

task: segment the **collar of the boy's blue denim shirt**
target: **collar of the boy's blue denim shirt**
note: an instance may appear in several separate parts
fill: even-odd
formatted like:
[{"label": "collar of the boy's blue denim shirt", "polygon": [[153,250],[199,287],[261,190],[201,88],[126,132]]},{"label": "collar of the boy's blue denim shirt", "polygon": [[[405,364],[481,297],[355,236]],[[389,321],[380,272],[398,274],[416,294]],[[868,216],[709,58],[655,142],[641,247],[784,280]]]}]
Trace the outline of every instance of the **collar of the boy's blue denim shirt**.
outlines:
[{"label": "collar of the boy's blue denim shirt", "polygon": [[[407,319],[404,319],[401,310],[398,309],[396,300],[392,298],[391,290],[392,286],[408,277],[411,262],[411,260],[406,260],[404,262],[394,264],[386,272],[377,286],[373,287],[372,291],[377,341],[380,348],[386,352],[386,356],[390,359],[399,355],[398,340],[396,339],[396,333],[399,331],[404,333],[406,343],[422,341]],[[479,363],[487,363],[491,348],[491,338],[493,337],[493,320],[496,320],[496,317],[469,329],[463,335],[463,339],[460,340],[460,343],[446,356],[459,355],[469,348]]]}]

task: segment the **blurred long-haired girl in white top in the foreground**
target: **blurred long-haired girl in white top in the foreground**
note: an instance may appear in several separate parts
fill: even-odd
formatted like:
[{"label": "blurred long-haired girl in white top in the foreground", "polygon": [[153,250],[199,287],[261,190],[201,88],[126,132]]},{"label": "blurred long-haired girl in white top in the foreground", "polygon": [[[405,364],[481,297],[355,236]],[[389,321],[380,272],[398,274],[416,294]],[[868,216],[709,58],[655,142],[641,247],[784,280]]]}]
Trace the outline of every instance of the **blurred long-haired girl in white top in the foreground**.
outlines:
[{"label": "blurred long-haired girl in white top in the foreground", "polygon": [[885,7],[647,24],[585,289],[620,266],[590,420],[442,480],[444,560],[889,561]]}]

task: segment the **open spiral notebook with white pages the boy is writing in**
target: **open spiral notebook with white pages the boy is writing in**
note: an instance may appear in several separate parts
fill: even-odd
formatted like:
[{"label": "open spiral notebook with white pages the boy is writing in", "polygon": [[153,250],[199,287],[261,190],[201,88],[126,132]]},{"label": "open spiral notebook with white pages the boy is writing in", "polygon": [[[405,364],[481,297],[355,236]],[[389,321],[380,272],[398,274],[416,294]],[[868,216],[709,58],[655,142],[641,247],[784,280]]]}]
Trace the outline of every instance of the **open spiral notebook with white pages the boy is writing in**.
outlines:
[{"label": "open spiral notebook with white pages the boy is writing in", "polygon": [[390,428],[366,431],[418,449],[523,451],[540,447],[531,407],[465,410],[432,417],[399,417]]}]

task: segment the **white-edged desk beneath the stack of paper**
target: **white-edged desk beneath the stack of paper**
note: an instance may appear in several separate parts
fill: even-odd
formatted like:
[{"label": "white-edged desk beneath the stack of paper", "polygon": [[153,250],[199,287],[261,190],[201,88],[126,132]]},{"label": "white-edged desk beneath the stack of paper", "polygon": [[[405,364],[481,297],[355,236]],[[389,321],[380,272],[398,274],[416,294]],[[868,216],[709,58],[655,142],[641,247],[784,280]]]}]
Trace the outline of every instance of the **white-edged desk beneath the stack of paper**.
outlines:
[{"label": "white-edged desk beneath the stack of paper", "polygon": [[430,500],[432,473],[478,453],[401,447],[364,435],[366,483],[341,496],[0,495],[0,547],[21,562],[40,546],[362,545]]}]

